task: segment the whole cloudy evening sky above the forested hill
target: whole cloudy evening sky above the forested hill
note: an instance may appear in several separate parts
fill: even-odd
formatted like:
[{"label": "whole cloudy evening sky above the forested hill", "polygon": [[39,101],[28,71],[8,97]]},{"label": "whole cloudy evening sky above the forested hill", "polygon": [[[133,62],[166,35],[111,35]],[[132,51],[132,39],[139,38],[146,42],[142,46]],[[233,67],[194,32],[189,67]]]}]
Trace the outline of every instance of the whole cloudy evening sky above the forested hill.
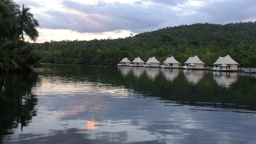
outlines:
[{"label": "whole cloudy evening sky above the forested hill", "polygon": [[[14,0],[38,20],[37,43],[125,38],[181,24],[256,20],[255,0]],[[26,36],[26,41],[29,38]]]}]

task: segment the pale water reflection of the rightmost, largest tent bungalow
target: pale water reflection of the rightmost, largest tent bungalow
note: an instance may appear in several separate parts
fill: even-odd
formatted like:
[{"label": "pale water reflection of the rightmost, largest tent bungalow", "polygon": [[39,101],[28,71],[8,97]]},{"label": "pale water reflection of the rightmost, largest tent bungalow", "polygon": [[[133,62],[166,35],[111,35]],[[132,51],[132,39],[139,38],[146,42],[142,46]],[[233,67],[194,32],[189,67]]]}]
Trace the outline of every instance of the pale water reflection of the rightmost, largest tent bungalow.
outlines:
[{"label": "pale water reflection of the rightmost, largest tent bungalow", "polygon": [[213,78],[217,84],[226,88],[237,81],[237,75],[238,73],[234,72],[213,72]]}]

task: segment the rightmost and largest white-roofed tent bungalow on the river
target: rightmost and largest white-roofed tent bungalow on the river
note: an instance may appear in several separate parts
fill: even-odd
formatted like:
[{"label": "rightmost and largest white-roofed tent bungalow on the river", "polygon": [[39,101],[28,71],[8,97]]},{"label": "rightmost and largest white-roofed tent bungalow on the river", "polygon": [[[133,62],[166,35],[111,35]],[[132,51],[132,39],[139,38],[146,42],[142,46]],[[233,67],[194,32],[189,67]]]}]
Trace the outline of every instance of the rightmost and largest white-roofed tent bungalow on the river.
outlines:
[{"label": "rightmost and largest white-roofed tent bungalow on the river", "polygon": [[239,64],[227,55],[225,57],[219,57],[213,65],[214,68],[226,69],[228,67],[228,70],[237,70]]}]

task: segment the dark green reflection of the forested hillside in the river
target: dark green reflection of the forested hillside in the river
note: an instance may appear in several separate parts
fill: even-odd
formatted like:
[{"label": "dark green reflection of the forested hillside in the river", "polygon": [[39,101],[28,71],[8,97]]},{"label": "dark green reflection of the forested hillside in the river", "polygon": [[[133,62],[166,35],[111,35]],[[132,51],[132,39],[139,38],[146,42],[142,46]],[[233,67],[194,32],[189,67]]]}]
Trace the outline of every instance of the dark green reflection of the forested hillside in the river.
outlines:
[{"label": "dark green reflection of the forested hillside in the river", "polygon": [[[218,85],[214,80],[212,71],[196,71],[174,69],[159,70],[159,68],[144,68],[139,77],[133,75],[133,68],[129,68],[129,73],[123,73],[122,67],[99,67],[99,66],[80,66],[80,65],[45,65],[49,69],[58,69],[56,73],[47,70],[42,75],[51,76],[76,76],[76,81],[100,82],[102,84],[112,84],[114,86],[125,86],[145,96],[159,97],[163,100],[171,100],[176,103],[192,106],[214,106],[221,108],[238,108],[239,105],[249,106],[244,109],[256,110],[256,79],[254,75],[246,76],[244,73],[230,73],[238,75],[237,82],[229,88]],[[125,68],[125,67],[124,67]],[[125,68],[126,69],[126,68]],[[131,71],[130,71],[131,70]],[[164,74],[177,74],[170,82],[168,76]],[[150,76],[149,76],[150,73]],[[201,74],[203,76],[201,76]],[[125,76],[123,76],[125,75]],[[188,81],[186,75],[198,75],[196,84]],[[157,78],[156,78],[157,77]],[[232,76],[231,76],[232,77]],[[74,81],[74,79],[70,79]],[[198,102],[204,102],[198,103]],[[205,104],[208,103],[208,104]],[[224,105],[217,103],[232,103],[235,105]]]}]

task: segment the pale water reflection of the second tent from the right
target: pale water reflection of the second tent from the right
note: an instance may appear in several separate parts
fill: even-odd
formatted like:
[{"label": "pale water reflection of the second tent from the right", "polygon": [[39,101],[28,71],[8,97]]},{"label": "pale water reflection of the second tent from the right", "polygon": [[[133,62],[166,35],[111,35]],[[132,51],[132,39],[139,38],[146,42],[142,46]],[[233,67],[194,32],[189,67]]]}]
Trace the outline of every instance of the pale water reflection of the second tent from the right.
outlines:
[{"label": "pale water reflection of the second tent from the right", "polygon": [[204,77],[204,70],[183,70],[183,74],[191,84],[197,84]]}]

